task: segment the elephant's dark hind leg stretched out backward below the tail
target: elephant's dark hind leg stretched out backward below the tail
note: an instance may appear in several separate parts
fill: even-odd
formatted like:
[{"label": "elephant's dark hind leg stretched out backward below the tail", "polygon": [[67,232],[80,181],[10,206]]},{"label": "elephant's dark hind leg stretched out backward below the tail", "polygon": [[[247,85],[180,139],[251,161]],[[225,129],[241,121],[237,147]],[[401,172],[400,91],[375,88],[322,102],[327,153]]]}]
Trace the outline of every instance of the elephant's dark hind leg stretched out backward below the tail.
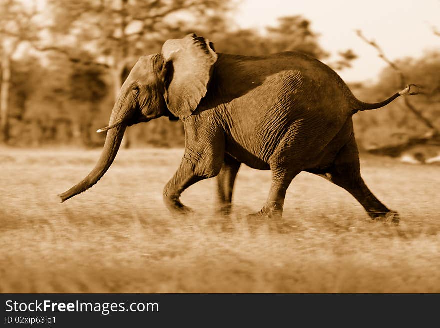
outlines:
[{"label": "elephant's dark hind leg stretched out backward below the tail", "polygon": [[341,148],[333,164],[326,171],[325,174],[319,175],[347,190],[364,207],[371,218],[398,223],[398,213],[389,210],[381,203],[363,181],[354,135]]}]

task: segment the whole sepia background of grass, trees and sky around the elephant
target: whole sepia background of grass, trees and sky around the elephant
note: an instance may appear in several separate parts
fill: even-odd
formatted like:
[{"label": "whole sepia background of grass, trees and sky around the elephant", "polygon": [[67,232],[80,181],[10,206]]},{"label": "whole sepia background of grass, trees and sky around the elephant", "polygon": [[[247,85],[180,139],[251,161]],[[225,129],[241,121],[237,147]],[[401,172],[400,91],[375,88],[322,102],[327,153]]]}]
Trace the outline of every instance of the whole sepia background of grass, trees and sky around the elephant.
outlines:
[{"label": "whole sepia background of grass, trees and sky around the elephant", "polygon": [[[0,0],[0,292],[440,292],[440,1],[344,2]],[[105,177],[60,204],[97,160],[95,131],[137,58],[190,32],[217,52],[308,53],[363,101],[422,86],[354,115],[364,180],[400,225],[302,173],[286,196],[292,231],[249,231],[270,172],[247,167],[231,231],[213,179],[173,217],[162,189],[184,132],[167,118],[128,128]]]}]

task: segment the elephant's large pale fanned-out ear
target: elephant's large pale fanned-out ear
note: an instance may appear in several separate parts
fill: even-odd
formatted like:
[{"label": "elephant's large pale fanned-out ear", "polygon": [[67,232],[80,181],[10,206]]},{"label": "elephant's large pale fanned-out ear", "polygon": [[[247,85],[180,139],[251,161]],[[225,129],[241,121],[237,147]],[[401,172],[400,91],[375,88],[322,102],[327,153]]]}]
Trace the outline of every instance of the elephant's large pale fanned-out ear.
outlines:
[{"label": "elephant's large pale fanned-out ear", "polygon": [[172,72],[167,73],[169,84],[165,83],[168,109],[177,117],[187,117],[206,95],[217,54],[208,40],[189,34],[182,39],[166,41],[162,56],[166,67],[172,65]]}]

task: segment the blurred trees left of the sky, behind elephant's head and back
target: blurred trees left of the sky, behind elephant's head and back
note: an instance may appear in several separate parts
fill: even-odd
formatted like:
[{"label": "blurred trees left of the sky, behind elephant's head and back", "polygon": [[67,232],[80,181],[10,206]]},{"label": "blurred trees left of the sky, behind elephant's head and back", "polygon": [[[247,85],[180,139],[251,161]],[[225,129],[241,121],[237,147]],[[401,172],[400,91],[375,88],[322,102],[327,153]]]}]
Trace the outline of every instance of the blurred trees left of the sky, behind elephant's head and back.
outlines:
[{"label": "blurred trees left of the sky, behind elephant's head and back", "polygon": [[[18,69],[12,67],[12,75],[17,75],[11,79],[15,86],[10,91],[8,116],[15,125],[14,143],[36,145],[52,139],[83,145],[102,142],[103,135],[90,132],[96,125],[105,125],[114,97],[137,57],[158,52],[166,39],[180,38],[185,33],[208,37],[218,52],[264,55],[295,50],[320,59],[327,56],[307,19],[283,17],[261,35],[252,29],[237,28],[228,18],[232,0],[46,2],[44,23],[51,26],[50,33],[40,33],[41,24],[23,18],[20,21],[28,21],[24,25],[33,26],[33,30],[21,29],[20,33],[9,35],[14,39],[21,35],[18,39],[45,51],[38,55],[41,65],[24,52],[26,55],[14,62]],[[11,8],[8,6],[7,10]],[[22,9],[32,17],[31,8],[26,8]],[[7,29],[9,34],[11,30]],[[342,53],[348,61],[354,56],[350,51]],[[108,89],[113,90],[110,95]],[[181,123],[166,118],[133,126],[127,135],[133,143],[184,144]]]}]

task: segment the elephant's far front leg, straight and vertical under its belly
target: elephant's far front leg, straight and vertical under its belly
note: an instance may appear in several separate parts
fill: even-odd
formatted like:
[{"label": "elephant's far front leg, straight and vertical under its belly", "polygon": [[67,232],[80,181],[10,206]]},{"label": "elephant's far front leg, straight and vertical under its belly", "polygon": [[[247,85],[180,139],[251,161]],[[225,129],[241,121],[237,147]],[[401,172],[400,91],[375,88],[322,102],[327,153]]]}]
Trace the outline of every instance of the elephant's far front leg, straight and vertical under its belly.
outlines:
[{"label": "elephant's far front leg, straight and vertical under its belly", "polygon": [[224,155],[224,163],[217,175],[217,201],[219,212],[228,216],[232,207],[232,192],[235,178],[241,163],[228,154]]}]

